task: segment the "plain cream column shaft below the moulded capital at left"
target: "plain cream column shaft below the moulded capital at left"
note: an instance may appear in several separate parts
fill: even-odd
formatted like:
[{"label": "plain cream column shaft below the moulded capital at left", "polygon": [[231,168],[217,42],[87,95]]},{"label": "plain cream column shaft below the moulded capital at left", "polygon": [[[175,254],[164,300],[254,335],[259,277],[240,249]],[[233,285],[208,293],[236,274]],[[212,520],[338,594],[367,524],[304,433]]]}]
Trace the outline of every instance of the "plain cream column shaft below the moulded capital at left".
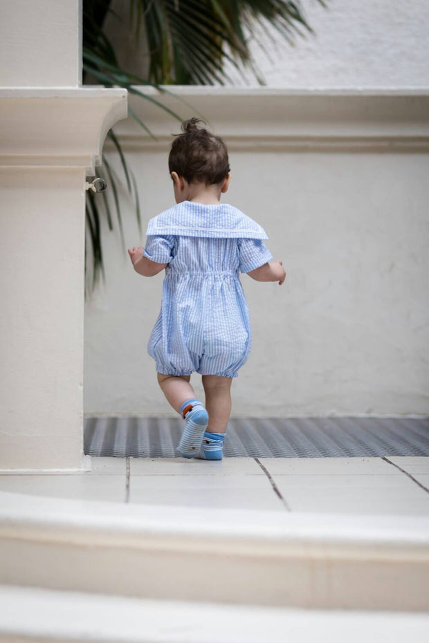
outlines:
[{"label": "plain cream column shaft below the moulded capital at left", "polygon": [[81,460],[83,180],[79,167],[1,167],[2,468]]}]

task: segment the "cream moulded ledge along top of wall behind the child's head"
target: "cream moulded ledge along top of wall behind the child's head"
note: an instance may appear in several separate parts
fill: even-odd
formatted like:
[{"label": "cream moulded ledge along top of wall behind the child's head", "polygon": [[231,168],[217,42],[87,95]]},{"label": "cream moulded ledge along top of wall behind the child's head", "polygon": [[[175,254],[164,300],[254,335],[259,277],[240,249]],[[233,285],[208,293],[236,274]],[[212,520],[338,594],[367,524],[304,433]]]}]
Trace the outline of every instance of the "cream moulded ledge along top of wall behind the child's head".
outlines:
[{"label": "cream moulded ledge along top of wall behind the child's head", "polygon": [[136,88],[147,100],[130,95],[130,106],[156,139],[128,118],[115,132],[131,149],[168,147],[179,131],[170,110],[180,119],[203,118],[230,149],[429,151],[429,88]]}]

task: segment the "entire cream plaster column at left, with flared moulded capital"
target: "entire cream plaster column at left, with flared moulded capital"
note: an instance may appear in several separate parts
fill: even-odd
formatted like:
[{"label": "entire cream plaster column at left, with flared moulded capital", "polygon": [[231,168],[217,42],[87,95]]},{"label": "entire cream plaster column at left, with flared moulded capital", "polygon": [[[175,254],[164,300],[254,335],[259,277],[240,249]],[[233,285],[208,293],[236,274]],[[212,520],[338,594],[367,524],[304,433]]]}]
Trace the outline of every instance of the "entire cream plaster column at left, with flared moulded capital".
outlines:
[{"label": "entire cream plaster column at left, with flared moulded capital", "polygon": [[127,91],[79,86],[79,1],[0,6],[0,470],[78,472],[85,181]]}]

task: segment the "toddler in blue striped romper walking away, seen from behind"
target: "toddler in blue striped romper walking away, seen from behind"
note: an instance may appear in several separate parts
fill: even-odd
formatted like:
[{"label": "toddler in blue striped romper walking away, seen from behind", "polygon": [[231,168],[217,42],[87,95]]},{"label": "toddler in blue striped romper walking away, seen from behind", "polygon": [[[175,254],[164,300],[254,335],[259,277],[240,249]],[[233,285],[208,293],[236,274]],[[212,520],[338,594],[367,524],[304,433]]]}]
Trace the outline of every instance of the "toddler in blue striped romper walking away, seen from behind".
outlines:
[{"label": "toddler in blue striped romper walking away, seen from behind", "polygon": [[[165,269],[161,312],[147,346],[158,383],[185,420],[177,448],[183,458],[221,460],[231,411],[232,378],[250,353],[248,305],[239,281],[286,278],[270,261],[264,230],[228,203],[226,145],[191,118],[172,143],[168,165],[176,205],[150,219],[146,245],[128,250],[134,270],[153,277]],[[202,375],[206,404],[195,397],[191,373]]]}]

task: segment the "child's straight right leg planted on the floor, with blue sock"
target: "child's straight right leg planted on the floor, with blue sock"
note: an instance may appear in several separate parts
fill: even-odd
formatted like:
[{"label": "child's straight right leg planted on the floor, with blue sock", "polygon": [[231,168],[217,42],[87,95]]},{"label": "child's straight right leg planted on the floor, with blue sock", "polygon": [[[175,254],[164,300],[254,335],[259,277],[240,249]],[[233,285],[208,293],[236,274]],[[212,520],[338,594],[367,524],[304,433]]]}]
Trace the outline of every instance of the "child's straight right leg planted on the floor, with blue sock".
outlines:
[{"label": "child's straight right leg planted on the floor, with blue sock", "polygon": [[203,375],[202,380],[204,392],[206,393],[206,409],[209,421],[197,458],[221,460],[223,440],[225,440],[225,431],[231,413],[232,378]]}]

